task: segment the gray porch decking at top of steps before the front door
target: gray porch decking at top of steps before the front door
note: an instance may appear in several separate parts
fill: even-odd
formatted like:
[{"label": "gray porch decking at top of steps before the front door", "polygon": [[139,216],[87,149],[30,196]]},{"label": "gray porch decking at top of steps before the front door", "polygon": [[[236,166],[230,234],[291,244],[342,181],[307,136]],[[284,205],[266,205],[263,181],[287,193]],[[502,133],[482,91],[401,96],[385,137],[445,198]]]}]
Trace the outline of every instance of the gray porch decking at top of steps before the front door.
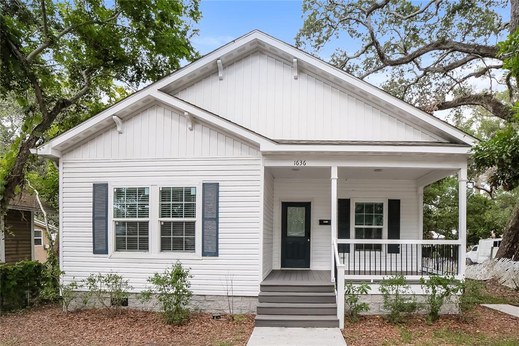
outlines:
[{"label": "gray porch decking at top of steps before the front door", "polygon": [[268,285],[329,285],[332,283],[329,270],[274,269],[262,284]]}]

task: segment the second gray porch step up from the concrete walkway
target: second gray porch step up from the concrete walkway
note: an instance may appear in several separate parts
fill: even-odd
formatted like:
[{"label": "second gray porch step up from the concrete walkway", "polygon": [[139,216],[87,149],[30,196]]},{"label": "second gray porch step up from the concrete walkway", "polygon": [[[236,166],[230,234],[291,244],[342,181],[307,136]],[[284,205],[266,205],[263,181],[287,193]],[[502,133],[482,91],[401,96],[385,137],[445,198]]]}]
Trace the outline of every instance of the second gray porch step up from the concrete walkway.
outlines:
[{"label": "second gray porch step up from the concrete walkway", "polygon": [[258,303],[258,315],[334,315],[335,303]]}]

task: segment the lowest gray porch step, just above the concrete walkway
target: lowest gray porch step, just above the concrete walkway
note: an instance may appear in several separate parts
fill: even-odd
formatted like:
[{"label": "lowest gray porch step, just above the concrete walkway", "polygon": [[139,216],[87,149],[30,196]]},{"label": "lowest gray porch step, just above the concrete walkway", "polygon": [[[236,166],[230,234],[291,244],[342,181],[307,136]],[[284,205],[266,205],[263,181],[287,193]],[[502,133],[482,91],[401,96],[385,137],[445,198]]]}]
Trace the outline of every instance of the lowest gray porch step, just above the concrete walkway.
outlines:
[{"label": "lowest gray porch step, just above the concrete walkway", "polygon": [[338,327],[336,315],[256,315],[256,327]]}]

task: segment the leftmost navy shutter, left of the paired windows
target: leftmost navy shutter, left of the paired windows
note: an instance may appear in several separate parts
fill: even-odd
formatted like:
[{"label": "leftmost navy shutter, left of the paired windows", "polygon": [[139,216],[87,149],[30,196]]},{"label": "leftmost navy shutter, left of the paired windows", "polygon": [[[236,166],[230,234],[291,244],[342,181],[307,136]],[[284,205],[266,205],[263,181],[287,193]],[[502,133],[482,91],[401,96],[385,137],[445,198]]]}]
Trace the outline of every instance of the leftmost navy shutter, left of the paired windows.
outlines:
[{"label": "leftmost navy shutter, left of the paired windows", "polygon": [[93,184],[92,252],[108,254],[108,184]]}]

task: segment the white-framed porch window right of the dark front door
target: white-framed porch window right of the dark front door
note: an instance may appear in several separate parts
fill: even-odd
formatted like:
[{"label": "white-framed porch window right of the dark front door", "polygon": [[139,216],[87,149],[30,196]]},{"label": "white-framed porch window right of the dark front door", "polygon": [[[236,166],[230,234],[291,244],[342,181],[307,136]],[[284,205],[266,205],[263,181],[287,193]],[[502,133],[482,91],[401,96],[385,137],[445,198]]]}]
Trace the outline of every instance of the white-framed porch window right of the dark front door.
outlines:
[{"label": "white-framed porch window right of the dark front door", "polygon": [[[382,239],[384,203],[355,203],[355,238]],[[382,250],[382,244],[355,244],[355,249]]]}]

